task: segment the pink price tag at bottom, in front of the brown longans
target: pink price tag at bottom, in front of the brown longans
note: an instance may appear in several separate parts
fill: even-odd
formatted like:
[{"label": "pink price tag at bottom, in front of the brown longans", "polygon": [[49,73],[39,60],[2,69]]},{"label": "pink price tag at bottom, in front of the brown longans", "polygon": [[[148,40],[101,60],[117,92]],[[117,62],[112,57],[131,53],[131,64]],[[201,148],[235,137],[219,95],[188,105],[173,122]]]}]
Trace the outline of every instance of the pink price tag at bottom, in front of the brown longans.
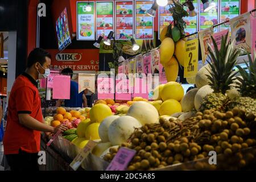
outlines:
[{"label": "pink price tag at bottom, in front of the brown longans", "polygon": [[135,154],[135,150],[121,147],[108,168],[106,168],[106,171],[124,171]]}]

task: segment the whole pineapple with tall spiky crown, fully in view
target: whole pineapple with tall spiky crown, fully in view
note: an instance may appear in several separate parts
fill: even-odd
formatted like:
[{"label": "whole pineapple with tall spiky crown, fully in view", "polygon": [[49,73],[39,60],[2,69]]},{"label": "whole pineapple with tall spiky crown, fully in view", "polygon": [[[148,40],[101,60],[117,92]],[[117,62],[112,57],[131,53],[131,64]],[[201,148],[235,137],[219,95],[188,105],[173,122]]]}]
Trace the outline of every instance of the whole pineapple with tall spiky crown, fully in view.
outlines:
[{"label": "whole pineapple with tall spiky crown, fully in view", "polygon": [[233,44],[227,42],[228,34],[222,37],[221,48],[218,50],[217,44],[212,37],[214,50],[208,47],[210,61],[207,61],[211,71],[207,75],[209,85],[213,89],[213,93],[208,94],[201,101],[201,110],[214,109],[225,110],[224,106],[228,102],[228,97],[225,96],[230,85],[234,83],[233,72],[234,65],[236,64],[239,51],[234,49]]}]

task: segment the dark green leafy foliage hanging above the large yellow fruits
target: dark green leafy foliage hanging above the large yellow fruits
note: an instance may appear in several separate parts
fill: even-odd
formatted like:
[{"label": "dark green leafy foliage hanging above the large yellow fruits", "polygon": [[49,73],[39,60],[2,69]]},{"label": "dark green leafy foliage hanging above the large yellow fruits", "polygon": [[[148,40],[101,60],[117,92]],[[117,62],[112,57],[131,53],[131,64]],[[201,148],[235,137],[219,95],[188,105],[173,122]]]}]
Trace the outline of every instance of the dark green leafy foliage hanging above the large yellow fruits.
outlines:
[{"label": "dark green leafy foliage hanging above the large yellow fruits", "polygon": [[183,20],[183,17],[188,16],[188,12],[184,10],[183,6],[174,0],[173,4],[170,4],[170,13],[172,13],[172,18],[174,19],[174,26],[177,26],[181,32],[181,37],[185,36],[185,27],[186,23]]}]

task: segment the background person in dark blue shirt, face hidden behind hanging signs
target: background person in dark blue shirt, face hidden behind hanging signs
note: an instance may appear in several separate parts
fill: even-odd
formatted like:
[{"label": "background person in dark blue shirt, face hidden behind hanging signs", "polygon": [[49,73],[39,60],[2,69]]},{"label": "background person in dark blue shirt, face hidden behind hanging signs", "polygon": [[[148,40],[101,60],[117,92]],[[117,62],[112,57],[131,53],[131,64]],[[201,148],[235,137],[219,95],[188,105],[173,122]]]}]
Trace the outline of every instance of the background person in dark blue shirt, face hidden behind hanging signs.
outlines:
[{"label": "background person in dark blue shirt, face hidden behind hanging signs", "polygon": [[[71,76],[71,79],[73,77],[73,70],[71,68],[65,68],[61,71],[63,75],[69,75]],[[69,100],[57,100],[56,107],[60,107],[64,101],[65,107],[82,107],[83,100],[82,100],[82,94],[78,93],[79,85],[76,81],[71,80],[70,84],[70,99]]]}]

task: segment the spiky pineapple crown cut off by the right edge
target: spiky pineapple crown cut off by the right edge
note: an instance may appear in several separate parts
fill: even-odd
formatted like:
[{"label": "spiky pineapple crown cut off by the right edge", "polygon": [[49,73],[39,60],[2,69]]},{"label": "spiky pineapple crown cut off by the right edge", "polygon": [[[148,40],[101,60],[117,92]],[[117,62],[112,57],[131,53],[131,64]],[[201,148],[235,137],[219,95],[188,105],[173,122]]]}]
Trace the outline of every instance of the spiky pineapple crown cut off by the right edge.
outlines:
[{"label": "spiky pineapple crown cut off by the right edge", "polygon": [[242,78],[237,77],[239,82],[236,82],[236,88],[238,88],[238,91],[242,96],[256,98],[256,52],[254,51],[254,61],[251,59],[249,52],[247,52],[247,56],[249,64],[247,64],[245,60],[243,61],[245,62],[249,73],[247,73],[240,65],[236,65],[240,75],[242,76]]}]

